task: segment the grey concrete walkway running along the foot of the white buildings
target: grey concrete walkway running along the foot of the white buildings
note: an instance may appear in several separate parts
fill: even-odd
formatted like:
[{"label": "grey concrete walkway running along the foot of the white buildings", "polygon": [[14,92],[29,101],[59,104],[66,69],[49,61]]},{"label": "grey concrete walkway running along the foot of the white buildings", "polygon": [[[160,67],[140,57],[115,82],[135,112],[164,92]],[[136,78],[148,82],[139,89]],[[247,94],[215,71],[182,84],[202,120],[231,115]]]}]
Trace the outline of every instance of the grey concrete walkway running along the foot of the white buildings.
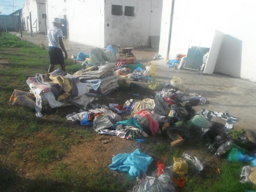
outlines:
[{"label": "grey concrete walkway running along the foot of the white buildings", "polygon": [[[17,33],[14,34],[17,35]],[[37,37],[24,34],[23,39],[35,44],[44,44],[46,47],[48,44],[47,37],[41,34],[38,34]],[[88,53],[93,48],[71,41],[64,41],[64,44],[70,58],[72,54]],[[133,51],[137,61],[143,64],[151,61],[156,52],[157,50],[152,49],[134,49]],[[178,76],[183,79],[187,92],[199,93],[209,99],[208,105],[197,106],[195,110],[209,109],[228,112],[230,115],[238,117],[239,122],[235,124],[235,127],[247,130],[250,140],[256,143],[256,83],[219,74],[203,75],[201,72],[172,70],[165,66],[155,66],[157,67],[157,80],[170,82],[173,76]],[[122,81],[131,82],[130,79],[122,79]],[[147,87],[147,84],[137,83],[137,86]]]}]

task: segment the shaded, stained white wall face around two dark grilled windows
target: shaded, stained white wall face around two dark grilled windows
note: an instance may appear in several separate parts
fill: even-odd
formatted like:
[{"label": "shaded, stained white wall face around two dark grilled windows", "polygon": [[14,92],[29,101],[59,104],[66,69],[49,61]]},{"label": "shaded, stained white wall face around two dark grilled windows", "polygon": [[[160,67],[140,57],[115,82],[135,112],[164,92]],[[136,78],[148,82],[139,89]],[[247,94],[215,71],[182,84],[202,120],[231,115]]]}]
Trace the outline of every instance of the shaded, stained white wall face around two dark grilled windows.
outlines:
[{"label": "shaded, stained white wall face around two dark grilled windows", "polygon": [[[105,46],[148,47],[149,35],[160,35],[162,1],[105,0]],[[122,16],[111,15],[112,4],[123,6]],[[124,15],[125,6],[134,6],[134,17]]]}]

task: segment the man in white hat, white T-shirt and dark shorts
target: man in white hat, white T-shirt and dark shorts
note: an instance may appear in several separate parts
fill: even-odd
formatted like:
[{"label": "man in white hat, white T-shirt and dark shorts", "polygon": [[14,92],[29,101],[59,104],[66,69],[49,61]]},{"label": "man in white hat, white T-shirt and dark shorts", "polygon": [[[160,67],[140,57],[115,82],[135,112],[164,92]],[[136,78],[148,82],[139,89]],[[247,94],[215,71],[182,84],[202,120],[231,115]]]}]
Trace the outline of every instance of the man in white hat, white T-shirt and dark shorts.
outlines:
[{"label": "man in white hat, white T-shirt and dark shorts", "polygon": [[48,53],[50,59],[50,67],[48,73],[51,73],[54,70],[56,64],[60,64],[61,69],[65,71],[65,62],[61,49],[65,53],[65,59],[67,59],[67,51],[62,41],[63,32],[61,30],[60,18],[54,18],[54,21],[52,22],[52,28],[48,29],[47,36],[49,42]]}]

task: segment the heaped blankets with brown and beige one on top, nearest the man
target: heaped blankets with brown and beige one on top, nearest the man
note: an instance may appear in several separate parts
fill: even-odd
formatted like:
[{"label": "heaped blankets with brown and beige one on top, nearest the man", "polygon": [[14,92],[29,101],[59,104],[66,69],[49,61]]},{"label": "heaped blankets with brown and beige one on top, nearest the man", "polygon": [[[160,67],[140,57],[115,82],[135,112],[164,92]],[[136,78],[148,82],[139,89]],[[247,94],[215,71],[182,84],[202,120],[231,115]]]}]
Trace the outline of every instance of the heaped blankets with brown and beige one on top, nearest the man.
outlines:
[{"label": "heaped blankets with brown and beige one on top, nearest the man", "polygon": [[[30,88],[30,93],[14,91],[10,102],[16,105],[25,106],[32,109],[35,106],[36,116],[43,116],[41,111],[50,108],[58,108],[67,105],[79,107],[87,106],[94,100],[87,96],[89,92],[86,84],[81,83],[76,76],[72,76],[62,71],[61,68],[52,73],[39,74],[29,77],[26,81]],[[21,96],[23,95],[23,96]],[[32,102],[35,96],[35,103]]]}]

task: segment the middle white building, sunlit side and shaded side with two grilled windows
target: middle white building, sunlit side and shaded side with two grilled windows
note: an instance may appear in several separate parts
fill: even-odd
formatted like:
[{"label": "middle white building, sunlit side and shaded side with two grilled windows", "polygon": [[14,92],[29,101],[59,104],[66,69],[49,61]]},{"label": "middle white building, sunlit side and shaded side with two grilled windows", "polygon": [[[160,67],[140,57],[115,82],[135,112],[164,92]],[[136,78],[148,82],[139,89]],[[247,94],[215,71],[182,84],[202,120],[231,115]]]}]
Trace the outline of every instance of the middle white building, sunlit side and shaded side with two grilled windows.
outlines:
[{"label": "middle white building, sunlit side and shaded side with two grilled windows", "polygon": [[149,47],[160,37],[163,0],[47,0],[48,26],[66,19],[70,41],[96,47]]}]

